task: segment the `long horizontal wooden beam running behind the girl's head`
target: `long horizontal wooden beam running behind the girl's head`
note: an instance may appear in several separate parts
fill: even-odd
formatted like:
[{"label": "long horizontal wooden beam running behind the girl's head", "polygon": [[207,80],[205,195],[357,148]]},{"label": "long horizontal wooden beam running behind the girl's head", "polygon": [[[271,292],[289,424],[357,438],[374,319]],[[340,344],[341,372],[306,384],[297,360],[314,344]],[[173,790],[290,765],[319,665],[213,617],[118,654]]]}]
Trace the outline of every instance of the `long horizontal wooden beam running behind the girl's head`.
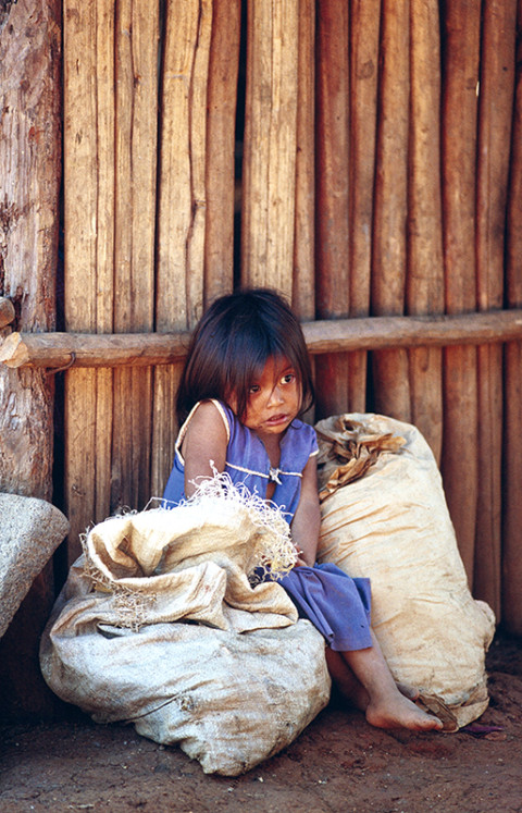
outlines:
[{"label": "long horizontal wooden beam running behind the girl's head", "polygon": [[[522,340],[522,310],[437,317],[369,317],[302,324],[310,353],[433,347]],[[183,359],[189,333],[11,333],[0,345],[8,367],[121,367]]]}]

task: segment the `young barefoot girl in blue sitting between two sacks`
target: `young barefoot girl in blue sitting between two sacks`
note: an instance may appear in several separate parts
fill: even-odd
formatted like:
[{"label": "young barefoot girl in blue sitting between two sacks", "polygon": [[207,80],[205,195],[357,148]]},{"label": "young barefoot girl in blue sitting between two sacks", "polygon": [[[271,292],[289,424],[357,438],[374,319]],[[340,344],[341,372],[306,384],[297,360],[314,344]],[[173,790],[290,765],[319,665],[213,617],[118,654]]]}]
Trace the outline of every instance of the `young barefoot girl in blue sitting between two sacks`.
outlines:
[{"label": "young barefoot girl in blue sitting between two sacks", "polygon": [[298,420],[312,401],[304,338],[284,300],[266,290],[217,299],[189,347],[177,394],[182,429],[163,497],[189,497],[195,481],[211,478],[214,468],[278,505],[298,553],[279,583],[325,637],[340,692],[374,726],[439,729],[442,722],[421,711],[414,692],[406,697],[391,677],[370,627],[369,580],[315,564],[318,443],[313,428]]}]

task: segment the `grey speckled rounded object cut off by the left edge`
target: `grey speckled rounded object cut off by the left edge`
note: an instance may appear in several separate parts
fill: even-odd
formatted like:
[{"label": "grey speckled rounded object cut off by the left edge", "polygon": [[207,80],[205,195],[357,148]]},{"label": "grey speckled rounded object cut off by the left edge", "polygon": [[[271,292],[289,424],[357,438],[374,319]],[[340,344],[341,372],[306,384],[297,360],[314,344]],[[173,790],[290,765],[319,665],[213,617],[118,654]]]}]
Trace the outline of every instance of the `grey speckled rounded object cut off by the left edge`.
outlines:
[{"label": "grey speckled rounded object cut off by the left edge", "polygon": [[45,500],[0,493],[0,638],[67,531]]}]

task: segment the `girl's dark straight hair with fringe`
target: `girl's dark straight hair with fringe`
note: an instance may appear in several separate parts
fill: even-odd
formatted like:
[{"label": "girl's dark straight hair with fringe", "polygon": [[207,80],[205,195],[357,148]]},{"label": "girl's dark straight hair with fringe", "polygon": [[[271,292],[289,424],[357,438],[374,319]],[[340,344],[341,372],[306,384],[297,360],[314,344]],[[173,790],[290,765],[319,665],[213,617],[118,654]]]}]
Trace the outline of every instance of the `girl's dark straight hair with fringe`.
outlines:
[{"label": "girl's dark straight hair with fringe", "polygon": [[[286,301],[269,288],[239,291],[216,299],[197,325],[177,391],[177,419],[204,398],[237,398],[240,419],[249,387],[271,356],[286,356],[301,385],[301,412],[314,392],[304,336]],[[229,406],[229,404],[228,404]]]}]

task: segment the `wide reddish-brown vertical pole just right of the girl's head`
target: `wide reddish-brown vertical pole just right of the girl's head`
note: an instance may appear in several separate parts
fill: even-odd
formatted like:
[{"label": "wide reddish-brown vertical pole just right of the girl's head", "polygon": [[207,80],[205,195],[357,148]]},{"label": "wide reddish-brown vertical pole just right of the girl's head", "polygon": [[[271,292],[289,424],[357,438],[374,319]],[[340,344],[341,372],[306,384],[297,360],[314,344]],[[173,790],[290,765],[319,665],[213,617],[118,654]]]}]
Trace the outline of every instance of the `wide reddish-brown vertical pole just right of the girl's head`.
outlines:
[{"label": "wide reddish-brown vertical pole just right of the girl's head", "polygon": [[[349,315],[349,16],[344,0],[318,3],[316,316]],[[318,417],[348,408],[348,355],[316,358]]]}]

